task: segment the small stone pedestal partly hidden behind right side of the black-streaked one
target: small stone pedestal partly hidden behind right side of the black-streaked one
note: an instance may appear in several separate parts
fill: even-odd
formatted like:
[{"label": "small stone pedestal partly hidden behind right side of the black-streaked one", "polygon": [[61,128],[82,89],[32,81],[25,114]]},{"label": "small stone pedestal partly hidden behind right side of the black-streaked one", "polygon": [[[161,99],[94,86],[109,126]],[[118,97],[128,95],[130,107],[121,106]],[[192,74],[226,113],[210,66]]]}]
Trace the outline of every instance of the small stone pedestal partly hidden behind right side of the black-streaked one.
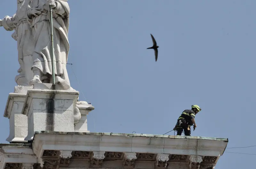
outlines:
[{"label": "small stone pedestal partly hidden behind right side of the black-streaked one", "polygon": [[87,129],[87,115],[94,110],[94,107],[86,101],[77,101],[76,108],[80,112],[81,118],[75,123],[75,132],[90,132]]}]

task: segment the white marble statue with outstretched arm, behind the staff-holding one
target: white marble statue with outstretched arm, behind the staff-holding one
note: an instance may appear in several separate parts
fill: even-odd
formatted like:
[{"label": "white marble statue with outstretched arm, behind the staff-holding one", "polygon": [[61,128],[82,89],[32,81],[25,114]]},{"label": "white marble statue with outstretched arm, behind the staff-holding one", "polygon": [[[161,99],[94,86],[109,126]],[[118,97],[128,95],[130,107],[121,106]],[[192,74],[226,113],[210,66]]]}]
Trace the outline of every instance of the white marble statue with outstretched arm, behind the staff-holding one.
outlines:
[{"label": "white marble statue with outstretched arm, behind the staff-holding one", "polygon": [[30,0],[17,0],[17,11],[12,16],[0,19],[0,26],[7,31],[13,31],[12,38],[17,40],[18,61],[20,63],[19,75],[15,77],[18,85],[29,86],[33,78],[31,67],[33,65],[32,53],[34,51],[32,29],[27,21],[28,3]]}]

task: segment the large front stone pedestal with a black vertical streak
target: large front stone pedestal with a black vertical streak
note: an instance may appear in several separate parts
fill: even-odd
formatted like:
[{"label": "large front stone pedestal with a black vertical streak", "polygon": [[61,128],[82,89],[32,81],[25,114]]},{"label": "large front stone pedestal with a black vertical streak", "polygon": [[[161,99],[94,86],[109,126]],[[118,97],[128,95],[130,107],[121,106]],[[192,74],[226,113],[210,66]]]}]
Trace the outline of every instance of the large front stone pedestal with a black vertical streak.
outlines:
[{"label": "large front stone pedestal with a black vertical streak", "polygon": [[36,131],[74,132],[74,109],[78,95],[78,91],[28,90],[21,111],[28,116],[28,136],[25,140],[32,140]]}]

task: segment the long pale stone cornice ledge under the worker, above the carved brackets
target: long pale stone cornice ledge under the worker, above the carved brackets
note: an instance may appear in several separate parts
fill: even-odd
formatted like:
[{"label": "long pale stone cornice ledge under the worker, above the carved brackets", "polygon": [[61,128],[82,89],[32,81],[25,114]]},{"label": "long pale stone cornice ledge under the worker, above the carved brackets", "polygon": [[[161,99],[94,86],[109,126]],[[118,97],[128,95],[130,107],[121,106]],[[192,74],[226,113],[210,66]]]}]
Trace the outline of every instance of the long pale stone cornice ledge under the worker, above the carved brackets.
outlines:
[{"label": "long pale stone cornice ledge under the worker, above the carved brackets", "polygon": [[221,156],[228,139],[118,133],[36,133],[33,149],[37,157],[44,150],[116,151],[177,155]]}]

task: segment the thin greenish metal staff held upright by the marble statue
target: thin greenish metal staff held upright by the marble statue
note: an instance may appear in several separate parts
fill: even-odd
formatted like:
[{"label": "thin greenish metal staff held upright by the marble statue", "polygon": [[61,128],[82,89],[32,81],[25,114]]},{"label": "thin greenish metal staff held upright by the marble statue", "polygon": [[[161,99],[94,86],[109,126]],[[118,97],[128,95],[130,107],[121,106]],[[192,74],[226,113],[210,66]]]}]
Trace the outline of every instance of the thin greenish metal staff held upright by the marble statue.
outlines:
[{"label": "thin greenish metal staff held upright by the marble statue", "polygon": [[53,48],[52,6],[49,5],[49,7],[50,7],[50,25],[51,25],[52,87],[53,87],[53,90],[55,90],[55,70],[54,70],[54,60],[53,60],[54,48]]}]

